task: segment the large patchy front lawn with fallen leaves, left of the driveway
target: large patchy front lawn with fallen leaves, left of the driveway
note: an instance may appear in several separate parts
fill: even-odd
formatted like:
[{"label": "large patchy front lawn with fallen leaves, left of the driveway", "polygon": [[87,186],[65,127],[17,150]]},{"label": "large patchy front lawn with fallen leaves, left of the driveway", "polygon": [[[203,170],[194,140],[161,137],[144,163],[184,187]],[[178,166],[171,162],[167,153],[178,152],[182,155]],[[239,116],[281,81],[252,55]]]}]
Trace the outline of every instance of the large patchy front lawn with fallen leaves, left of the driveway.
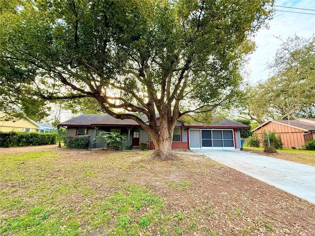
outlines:
[{"label": "large patchy front lawn with fallen leaves, left of the driveway", "polygon": [[[20,149],[18,149],[20,150]],[[26,150],[26,149],[24,149]],[[0,156],[0,235],[312,235],[315,205],[193,154]]]}]

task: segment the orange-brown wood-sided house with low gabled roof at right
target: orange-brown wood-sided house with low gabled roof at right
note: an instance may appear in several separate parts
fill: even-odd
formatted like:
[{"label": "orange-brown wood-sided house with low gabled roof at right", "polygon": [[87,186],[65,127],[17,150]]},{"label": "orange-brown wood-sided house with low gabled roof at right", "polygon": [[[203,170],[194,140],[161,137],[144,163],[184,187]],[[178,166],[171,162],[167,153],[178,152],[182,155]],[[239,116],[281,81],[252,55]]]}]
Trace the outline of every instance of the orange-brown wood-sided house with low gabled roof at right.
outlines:
[{"label": "orange-brown wood-sided house with low gabled roof at right", "polygon": [[259,125],[252,132],[260,135],[262,132],[280,134],[284,148],[301,148],[305,142],[315,140],[315,119],[298,118],[295,120],[273,119]]}]

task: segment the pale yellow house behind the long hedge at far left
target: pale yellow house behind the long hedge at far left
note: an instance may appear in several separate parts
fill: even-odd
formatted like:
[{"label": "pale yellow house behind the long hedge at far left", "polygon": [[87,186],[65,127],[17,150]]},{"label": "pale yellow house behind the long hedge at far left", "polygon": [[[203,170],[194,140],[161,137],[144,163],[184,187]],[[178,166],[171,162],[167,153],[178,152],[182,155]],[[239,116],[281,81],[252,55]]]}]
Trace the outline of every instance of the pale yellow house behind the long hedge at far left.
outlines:
[{"label": "pale yellow house behind the long hedge at far left", "polygon": [[40,133],[52,133],[56,128],[44,123],[37,123],[30,118],[22,118],[15,121],[3,120],[6,114],[0,112],[0,131],[22,131],[22,132],[40,132]]}]

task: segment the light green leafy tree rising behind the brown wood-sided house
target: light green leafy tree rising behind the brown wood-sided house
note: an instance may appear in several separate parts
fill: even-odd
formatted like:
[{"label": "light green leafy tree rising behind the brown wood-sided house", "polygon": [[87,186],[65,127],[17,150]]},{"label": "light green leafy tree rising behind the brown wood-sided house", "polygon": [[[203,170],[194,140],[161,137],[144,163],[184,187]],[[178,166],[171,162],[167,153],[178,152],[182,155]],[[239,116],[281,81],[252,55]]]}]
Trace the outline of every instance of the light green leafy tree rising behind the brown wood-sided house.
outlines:
[{"label": "light green leafy tree rising behind the brown wood-sided house", "polygon": [[270,68],[274,75],[250,87],[243,114],[259,124],[267,119],[315,117],[315,35],[283,41]]}]

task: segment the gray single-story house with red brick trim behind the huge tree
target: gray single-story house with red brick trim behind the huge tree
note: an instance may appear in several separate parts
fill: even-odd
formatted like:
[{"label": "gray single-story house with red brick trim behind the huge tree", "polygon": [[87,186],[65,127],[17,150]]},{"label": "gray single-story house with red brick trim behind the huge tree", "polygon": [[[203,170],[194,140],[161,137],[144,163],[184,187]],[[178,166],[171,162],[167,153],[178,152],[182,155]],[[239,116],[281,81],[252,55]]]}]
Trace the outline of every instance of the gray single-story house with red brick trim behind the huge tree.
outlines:
[{"label": "gray single-story house with red brick trim behind the huge tree", "polygon": [[[146,116],[140,117],[147,122]],[[159,118],[157,118],[159,124]],[[80,115],[59,124],[66,128],[66,136],[90,135],[90,147],[105,147],[104,141],[94,142],[100,131],[119,132],[126,136],[123,143],[133,148],[139,147],[140,142],[148,142],[150,149],[155,149],[147,132],[132,119],[116,119],[105,115]],[[242,123],[214,117],[209,125],[186,124],[177,121],[173,134],[173,149],[240,149],[240,129],[249,126]]]}]

